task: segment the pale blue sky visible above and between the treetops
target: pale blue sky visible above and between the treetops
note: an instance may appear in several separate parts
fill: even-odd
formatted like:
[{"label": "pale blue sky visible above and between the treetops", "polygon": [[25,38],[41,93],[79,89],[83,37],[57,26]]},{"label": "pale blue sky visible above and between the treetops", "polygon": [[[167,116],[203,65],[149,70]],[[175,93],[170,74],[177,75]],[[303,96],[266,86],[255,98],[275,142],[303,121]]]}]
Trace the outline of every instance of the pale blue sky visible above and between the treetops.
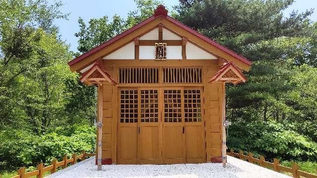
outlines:
[{"label": "pale blue sky visible above and between the treetops", "polygon": [[[64,5],[62,11],[69,13],[68,20],[59,19],[55,24],[60,29],[61,38],[70,44],[70,49],[77,51],[77,38],[74,36],[79,31],[78,18],[82,17],[85,22],[91,18],[100,18],[104,15],[112,17],[114,14],[126,17],[128,11],[136,9],[134,0],[62,0]],[[163,3],[172,9],[172,6],[178,4],[178,0],[162,0]],[[289,14],[293,10],[299,12],[314,8],[317,11],[317,0],[296,0],[292,6],[287,8],[284,14]],[[317,12],[310,17],[317,21]]]}]

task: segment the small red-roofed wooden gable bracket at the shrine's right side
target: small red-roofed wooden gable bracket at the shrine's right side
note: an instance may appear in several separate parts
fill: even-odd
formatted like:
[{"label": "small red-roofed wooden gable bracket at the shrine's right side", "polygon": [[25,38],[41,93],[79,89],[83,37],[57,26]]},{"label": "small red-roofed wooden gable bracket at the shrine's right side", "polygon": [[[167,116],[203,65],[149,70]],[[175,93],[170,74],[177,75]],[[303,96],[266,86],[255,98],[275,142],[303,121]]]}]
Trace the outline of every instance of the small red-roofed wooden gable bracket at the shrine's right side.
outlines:
[{"label": "small red-roofed wooden gable bracket at the shrine's right side", "polygon": [[[233,77],[224,77],[227,73],[232,72]],[[233,62],[225,63],[218,72],[211,78],[209,83],[232,83],[234,85],[241,82],[246,82],[248,79],[242,72],[233,64]]]}]

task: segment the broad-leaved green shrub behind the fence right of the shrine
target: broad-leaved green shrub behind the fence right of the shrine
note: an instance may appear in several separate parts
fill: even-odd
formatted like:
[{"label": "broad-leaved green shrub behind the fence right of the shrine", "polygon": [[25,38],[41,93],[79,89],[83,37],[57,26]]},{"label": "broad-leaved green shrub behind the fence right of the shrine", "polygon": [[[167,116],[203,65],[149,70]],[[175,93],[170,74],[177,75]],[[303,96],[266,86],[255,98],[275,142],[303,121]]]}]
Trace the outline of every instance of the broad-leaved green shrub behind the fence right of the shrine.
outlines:
[{"label": "broad-leaved green shrub behind the fence right of the shrine", "polygon": [[227,145],[269,160],[317,161],[316,142],[275,121],[235,123],[229,127]]}]

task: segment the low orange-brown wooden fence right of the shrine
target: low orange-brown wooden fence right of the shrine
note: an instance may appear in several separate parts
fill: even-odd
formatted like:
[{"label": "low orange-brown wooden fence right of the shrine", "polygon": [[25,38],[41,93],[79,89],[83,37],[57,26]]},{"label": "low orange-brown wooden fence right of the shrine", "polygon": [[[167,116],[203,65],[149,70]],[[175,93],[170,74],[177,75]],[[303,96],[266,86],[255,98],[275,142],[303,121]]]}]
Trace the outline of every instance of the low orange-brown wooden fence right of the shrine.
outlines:
[{"label": "low orange-brown wooden fence right of the shrine", "polygon": [[265,158],[262,155],[259,157],[260,159],[258,159],[258,158],[254,158],[253,154],[250,152],[248,155],[244,155],[243,151],[240,150],[239,153],[235,153],[233,152],[233,149],[230,149],[230,152],[228,152],[227,155],[237,157],[241,160],[248,160],[249,163],[257,163],[261,167],[264,167],[264,168],[267,168],[267,167],[272,168],[276,172],[284,171],[287,173],[292,173],[293,178],[300,178],[300,177],[317,178],[317,175],[306,173],[304,171],[299,170],[299,167],[296,163],[292,163],[292,167],[289,168],[289,167],[280,165],[279,160],[276,158],[273,159],[273,163],[270,163],[265,161]]}]

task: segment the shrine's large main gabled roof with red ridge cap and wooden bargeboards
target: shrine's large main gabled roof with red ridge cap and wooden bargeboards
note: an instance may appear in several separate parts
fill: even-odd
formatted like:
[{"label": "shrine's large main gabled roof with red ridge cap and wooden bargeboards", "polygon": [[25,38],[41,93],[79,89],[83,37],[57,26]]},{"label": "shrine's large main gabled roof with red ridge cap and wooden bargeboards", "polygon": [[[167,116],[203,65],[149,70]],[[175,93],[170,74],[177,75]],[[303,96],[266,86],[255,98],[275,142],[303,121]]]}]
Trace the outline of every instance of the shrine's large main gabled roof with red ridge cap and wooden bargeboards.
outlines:
[{"label": "shrine's large main gabled roof with red ridge cap and wooden bargeboards", "polygon": [[[234,63],[243,70],[248,71],[252,65],[252,63],[248,59],[238,55],[237,53],[222,45],[217,44],[206,36],[196,32],[195,30],[168,16],[167,10],[162,5],[159,5],[159,7],[155,10],[153,16],[149,17],[138,25],[126,30],[125,32],[113,37],[106,43],[101,44],[91,49],[90,51],[78,56],[77,58],[69,61],[68,65],[70,66],[72,71],[77,71],[79,68],[82,68],[92,61],[98,59],[99,57],[105,55],[105,52],[111,51],[111,49],[105,50],[106,48],[109,47],[114,49],[119,47],[120,45],[125,45],[127,42],[144,33],[145,30],[151,29],[159,24],[162,24],[174,30],[175,32],[179,32],[180,35],[186,37],[187,39],[193,41],[198,45],[205,47],[207,50],[214,52],[216,55],[228,61],[234,61]],[[125,42],[118,42],[119,40],[123,40]],[[115,45],[116,43],[118,44]],[[84,59],[88,58],[88,61],[83,62]]]}]

